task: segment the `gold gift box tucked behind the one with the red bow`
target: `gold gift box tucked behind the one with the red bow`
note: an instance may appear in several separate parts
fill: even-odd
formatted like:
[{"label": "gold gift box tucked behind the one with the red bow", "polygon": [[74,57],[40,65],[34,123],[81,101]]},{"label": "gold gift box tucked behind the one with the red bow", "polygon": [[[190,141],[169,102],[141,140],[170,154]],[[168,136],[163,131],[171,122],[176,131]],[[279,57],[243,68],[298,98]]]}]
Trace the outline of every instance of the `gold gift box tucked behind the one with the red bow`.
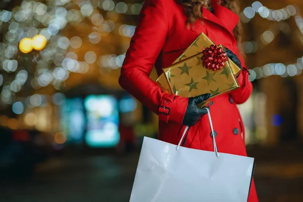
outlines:
[{"label": "gold gift box tucked behind the one with the red bow", "polygon": [[[183,54],[177,58],[173,64],[179,63],[187,58],[190,58],[196,54],[202,53],[203,48],[210,47],[212,44],[215,44],[207,35],[203,32],[185,49]],[[241,69],[234,63],[232,60],[228,59],[229,66],[233,75],[237,76],[240,74]],[[166,78],[164,74],[161,74],[159,78],[156,80],[158,85],[161,87],[162,91],[166,91],[170,93],[169,86],[167,84]]]}]

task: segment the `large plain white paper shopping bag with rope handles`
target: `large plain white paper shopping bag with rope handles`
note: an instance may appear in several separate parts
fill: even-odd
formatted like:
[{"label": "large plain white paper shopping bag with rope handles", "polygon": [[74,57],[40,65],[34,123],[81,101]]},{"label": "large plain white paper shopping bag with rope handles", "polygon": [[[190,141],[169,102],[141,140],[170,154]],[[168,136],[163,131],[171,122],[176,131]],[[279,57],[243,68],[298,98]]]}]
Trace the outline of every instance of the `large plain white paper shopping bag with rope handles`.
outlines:
[{"label": "large plain white paper shopping bag with rope handles", "polygon": [[187,129],[179,145],[144,137],[130,202],[246,202],[254,158],[182,147]]}]

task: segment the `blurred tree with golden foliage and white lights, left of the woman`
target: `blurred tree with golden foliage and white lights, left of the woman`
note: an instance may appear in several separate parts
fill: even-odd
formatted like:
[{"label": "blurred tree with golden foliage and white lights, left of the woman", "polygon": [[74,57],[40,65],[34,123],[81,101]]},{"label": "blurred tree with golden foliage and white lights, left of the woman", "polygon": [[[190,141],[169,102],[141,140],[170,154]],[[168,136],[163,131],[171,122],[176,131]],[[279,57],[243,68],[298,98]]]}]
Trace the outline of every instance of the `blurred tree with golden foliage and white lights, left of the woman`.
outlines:
[{"label": "blurred tree with golden foliage and white lights, left of the woman", "polygon": [[[1,1],[0,110],[19,100],[30,105],[24,98],[34,93],[50,95],[83,82],[120,87],[118,69],[142,7],[127,2]],[[37,34],[46,37],[46,46],[22,53],[21,39]]]}]

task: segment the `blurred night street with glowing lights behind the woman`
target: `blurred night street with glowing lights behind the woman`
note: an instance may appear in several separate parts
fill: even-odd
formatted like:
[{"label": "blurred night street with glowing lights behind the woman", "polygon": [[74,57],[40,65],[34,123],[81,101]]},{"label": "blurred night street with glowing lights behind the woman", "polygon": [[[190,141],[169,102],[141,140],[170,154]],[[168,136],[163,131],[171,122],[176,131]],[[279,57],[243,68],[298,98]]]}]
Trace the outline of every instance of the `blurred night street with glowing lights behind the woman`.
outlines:
[{"label": "blurred night street with glowing lights behind the woman", "polygon": [[[158,131],[118,84],[143,3],[0,0],[0,201],[129,201],[143,137]],[[303,201],[303,2],[241,11],[257,192]]]}]

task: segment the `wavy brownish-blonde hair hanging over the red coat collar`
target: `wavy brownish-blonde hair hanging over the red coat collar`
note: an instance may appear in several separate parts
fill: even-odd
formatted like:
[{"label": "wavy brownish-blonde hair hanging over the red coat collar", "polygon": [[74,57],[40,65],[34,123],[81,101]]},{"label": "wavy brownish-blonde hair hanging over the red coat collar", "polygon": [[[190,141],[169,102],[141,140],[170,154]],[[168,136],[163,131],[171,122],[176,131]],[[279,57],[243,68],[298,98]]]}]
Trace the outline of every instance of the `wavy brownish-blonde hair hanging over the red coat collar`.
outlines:
[{"label": "wavy brownish-blonde hair hanging over the red coat collar", "polygon": [[[211,8],[211,0],[176,0],[176,2],[184,7],[188,24],[194,23],[196,20],[202,20],[202,7],[207,9]],[[221,2],[223,3],[223,6],[233,11],[235,14],[240,14],[240,0],[224,0]],[[234,28],[233,34],[238,44],[241,43],[242,26],[240,22]]]}]

